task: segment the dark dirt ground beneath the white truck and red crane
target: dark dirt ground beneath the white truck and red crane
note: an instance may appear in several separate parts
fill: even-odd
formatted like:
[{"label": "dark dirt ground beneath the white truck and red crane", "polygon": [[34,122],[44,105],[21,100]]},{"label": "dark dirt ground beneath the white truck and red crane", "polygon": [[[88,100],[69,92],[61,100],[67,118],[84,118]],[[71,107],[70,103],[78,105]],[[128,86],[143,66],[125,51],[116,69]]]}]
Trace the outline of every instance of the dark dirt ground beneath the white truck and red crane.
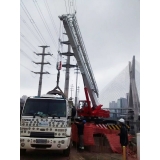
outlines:
[{"label": "dark dirt ground beneath the white truck and red crane", "polygon": [[[24,155],[20,156],[20,160],[122,160],[122,155],[79,151],[72,147],[69,157],[64,157],[61,151],[27,150]],[[128,160],[137,159],[129,157]]]}]

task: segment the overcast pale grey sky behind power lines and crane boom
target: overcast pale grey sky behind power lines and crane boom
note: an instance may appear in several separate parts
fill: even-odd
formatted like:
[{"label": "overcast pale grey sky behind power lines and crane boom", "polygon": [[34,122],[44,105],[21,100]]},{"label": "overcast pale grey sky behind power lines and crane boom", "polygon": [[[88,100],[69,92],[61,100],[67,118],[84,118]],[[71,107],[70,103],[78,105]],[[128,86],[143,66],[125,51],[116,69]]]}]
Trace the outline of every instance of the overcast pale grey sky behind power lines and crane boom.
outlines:
[{"label": "overcast pale grey sky behind power lines and crane boom", "polygon": [[[74,13],[75,10],[99,91],[128,65],[133,55],[140,62],[139,0],[47,0],[46,2],[21,0],[20,97],[38,94],[39,74],[31,71],[40,72],[40,65],[32,61],[41,62],[41,56],[33,53],[41,53],[42,48],[38,47],[41,45],[50,46],[46,49],[46,53],[53,54],[52,57],[45,56],[45,60],[51,65],[45,65],[44,71],[48,71],[51,75],[43,75],[41,93],[45,94],[56,86],[57,50],[67,51],[65,45],[59,48],[58,39],[68,40],[66,35],[61,34],[64,29],[62,29],[62,23],[62,28],[60,27],[58,16]],[[28,16],[26,13],[29,13]],[[38,35],[36,27],[46,44],[39,38],[40,34]],[[65,62],[66,57],[63,57],[62,63]],[[71,58],[71,64],[76,64],[74,58]],[[78,77],[79,99],[84,99],[83,81],[80,74]],[[62,68],[59,83],[62,90],[64,90],[64,80],[65,68]],[[70,69],[69,97],[71,85],[73,85],[72,95],[74,96],[76,74],[73,68]]]}]

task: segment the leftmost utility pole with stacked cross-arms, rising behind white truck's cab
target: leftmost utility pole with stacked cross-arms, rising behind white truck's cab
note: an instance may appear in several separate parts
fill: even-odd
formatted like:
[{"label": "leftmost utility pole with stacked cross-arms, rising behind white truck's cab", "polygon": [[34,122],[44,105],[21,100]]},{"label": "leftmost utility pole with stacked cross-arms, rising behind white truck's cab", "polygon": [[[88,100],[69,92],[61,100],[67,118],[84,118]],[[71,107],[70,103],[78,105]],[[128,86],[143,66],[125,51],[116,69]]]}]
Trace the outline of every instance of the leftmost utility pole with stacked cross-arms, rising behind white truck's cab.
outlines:
[{"label": "leftmost utility pole with stacked cross-arms, rising behind white truck's cab", "polygon": [[[43,65],[44,64],[50,64],[49,62],[44,62],[44,56],[46,56],[46,55],[52,55],[52,54],[50,54],[50,53],[45,53],[45,49],[47,48],[47,47],[49,47],[49,46],[39,46],[39,47],[42,47],[43,48],[43,52],[42,53],[35,53],[36,55],[41,55],[42,56],[42,61],[41,62],[33,62],[33,63],[35,63],[35,64],[41,64],[41,70],[40,70],[40,72],[33,72],[33,73],[35,73],[35,74],[40,74],[40,77],[39,77],[39,85],[38,85],[38,96],[41,96],[41,89],[42,89],[42,75],[43,74],[50,74],[49,72],[43,72]],[[51,65],[51,64],[50,64]]]}]

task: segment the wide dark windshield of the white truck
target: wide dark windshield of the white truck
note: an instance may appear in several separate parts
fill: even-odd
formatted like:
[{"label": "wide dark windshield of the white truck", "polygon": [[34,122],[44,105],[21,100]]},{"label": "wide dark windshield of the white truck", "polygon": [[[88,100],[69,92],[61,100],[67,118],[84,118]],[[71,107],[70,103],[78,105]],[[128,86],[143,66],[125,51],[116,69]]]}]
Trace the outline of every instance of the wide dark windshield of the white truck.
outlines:
[{"label": "wide dark windshield of the white truck", "polygon": [[28,99],[22,116],[46,115],[66,117],[66,101],[53,99]]}]

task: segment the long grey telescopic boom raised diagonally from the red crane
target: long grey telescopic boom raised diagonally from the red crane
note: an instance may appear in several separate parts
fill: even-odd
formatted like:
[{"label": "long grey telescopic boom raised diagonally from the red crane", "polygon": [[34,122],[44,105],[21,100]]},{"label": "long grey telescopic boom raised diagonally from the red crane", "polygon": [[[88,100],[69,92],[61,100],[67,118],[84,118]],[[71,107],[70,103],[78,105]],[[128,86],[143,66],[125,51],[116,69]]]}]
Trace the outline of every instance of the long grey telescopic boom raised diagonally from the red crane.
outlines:
[{"label": "long grey telescopic boom raised diagonally from the red crane", "polygon": [[59,16],[63,21],[66,34],[72,46],[74,56],[81,71],[84,86],[87,87],[93,107],[100,106],[98,102],[99,91],[94,78],[94,74],[89,62],[87,51],[81,36],[77,19],[74,14]]}]

